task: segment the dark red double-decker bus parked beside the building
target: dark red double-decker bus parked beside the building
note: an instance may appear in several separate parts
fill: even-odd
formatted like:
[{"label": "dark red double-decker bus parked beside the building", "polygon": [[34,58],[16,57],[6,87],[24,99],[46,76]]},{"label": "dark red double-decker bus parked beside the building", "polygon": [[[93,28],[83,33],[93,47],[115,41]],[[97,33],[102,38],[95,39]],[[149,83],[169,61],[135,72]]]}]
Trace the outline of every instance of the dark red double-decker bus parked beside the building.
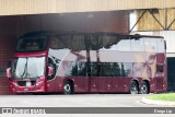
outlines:
[{"label": "dark red double-decker bus parked beside the building", "polygon": [[161,36],[34,32],[20,37],[11,68],[13,93],[148,94],[166,91]]}]

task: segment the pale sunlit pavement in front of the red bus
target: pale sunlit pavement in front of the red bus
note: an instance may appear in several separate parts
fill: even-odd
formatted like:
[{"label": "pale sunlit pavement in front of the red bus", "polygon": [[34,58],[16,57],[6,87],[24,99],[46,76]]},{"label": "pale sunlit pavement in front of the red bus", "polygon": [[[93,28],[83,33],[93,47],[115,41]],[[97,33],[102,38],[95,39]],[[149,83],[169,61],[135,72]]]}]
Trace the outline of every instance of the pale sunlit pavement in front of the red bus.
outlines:
[{"label": "pale sunlit pavement in front of the red bus", "polygon": [[[149,94],[150,95],[150,94]],[[156,107],[141,102],[148,95],[74,94],[74,95],[4,95],[1,107]]]}]

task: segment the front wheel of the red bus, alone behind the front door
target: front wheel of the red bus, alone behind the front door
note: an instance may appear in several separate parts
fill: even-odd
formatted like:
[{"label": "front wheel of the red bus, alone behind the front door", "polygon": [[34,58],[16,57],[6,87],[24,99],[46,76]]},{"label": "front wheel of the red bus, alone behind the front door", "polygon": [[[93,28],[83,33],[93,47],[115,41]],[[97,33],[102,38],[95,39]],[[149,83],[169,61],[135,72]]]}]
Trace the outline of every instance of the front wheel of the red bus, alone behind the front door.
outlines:
[{"label": "front wheel of the red bus, alone behind the front door", "polygon": [[65,82],[63,84],[63,93],[66,95],[72,94],[72,85],[69,81]]}]

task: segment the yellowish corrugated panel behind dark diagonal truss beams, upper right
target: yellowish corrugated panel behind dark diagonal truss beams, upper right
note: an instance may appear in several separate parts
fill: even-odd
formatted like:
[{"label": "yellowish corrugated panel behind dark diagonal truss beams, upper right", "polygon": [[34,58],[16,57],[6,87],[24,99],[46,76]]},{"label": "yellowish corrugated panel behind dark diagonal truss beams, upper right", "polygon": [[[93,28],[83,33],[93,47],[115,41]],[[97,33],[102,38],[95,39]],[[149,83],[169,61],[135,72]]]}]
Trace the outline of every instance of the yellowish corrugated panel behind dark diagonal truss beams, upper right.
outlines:
[{"label": "yellowish corrugated panel behind dark diagonal truss beams, upper right", "polygon": [[[139,19],[144,10],[137,11],[137,19]],[[156,20],[153,17],[156,17]],[[141,17],[137,25],[137,31],[163,31],[163,30],[175,30],[175,9],[162,9],[159,13],[151,14],[149,11]],[[171,23],[173,23],[171,25]],[[168,28],[170,26],[170,28]]]}]

